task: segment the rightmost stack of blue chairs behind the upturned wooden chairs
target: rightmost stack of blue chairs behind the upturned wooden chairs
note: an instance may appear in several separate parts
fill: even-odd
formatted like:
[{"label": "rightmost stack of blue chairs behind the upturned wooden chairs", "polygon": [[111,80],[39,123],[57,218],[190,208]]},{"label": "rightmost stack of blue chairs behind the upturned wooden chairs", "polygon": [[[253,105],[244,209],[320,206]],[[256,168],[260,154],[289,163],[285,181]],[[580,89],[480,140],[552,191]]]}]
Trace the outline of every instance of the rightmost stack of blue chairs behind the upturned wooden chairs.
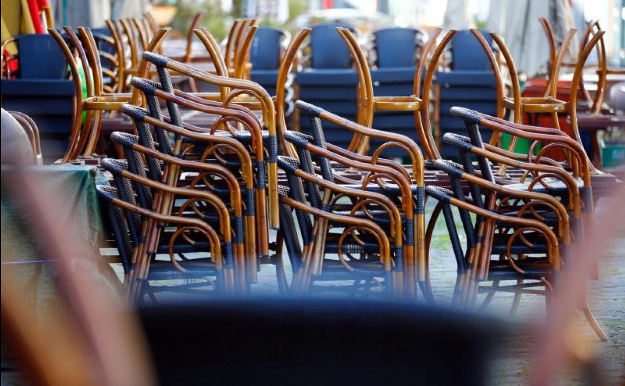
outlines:
[{"label": "rightmost stack of blue chairs behind the upturned wooden chairs", "polygon": [[[492,38],[487,31],[479,31],[489,44]],[[444,133],[466,134],[464,123],[454,119],[449,111],[453,106],[474,109],[480,113],[497,114],[497,90],[495,77],[484,50],[471,31],[462,30],[451,41],[451,66],[449,71],[439,71],[434,80],[440,88],[438,119],[440,137]],[[436,119],[436,118],[435,118]],[[491,138],[491,131],[481,132],[484,142]],[[441,143],[442,158],[454,158],[457,151]]]}]

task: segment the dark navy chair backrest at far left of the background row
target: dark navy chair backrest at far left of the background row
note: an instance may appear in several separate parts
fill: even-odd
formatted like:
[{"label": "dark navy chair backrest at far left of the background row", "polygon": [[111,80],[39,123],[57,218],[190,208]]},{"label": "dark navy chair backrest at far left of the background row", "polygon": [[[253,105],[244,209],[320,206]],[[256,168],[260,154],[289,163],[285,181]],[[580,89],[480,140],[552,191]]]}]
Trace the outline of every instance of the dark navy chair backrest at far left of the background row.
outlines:
[{"label": "dark navy chair backrest at far left of the background row", "polygon": [[19,73],[22,79],[63,79],[68,61],[49,34],[17,36]]}]

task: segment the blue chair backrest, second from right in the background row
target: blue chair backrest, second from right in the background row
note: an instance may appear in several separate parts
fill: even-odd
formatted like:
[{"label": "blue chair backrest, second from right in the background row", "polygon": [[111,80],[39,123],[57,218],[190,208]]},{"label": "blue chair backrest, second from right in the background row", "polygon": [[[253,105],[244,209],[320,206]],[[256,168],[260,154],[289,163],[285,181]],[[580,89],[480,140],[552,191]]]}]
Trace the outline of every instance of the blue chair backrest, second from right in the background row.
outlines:
[{"label": "blue chair backrest, second from right in the background row", "polygon": [[417,35],[414,28],[385,28],[374,32],[376,36],[377,66],[414,66]]}]

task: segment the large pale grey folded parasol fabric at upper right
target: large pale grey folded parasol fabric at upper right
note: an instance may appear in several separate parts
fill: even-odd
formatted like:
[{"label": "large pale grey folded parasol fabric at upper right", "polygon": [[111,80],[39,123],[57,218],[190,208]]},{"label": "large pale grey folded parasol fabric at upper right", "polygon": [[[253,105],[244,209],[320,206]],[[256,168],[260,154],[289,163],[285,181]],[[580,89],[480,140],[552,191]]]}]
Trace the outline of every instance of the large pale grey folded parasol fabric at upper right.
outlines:
[{"label": "large pale grey folded parasol fabric at upper right", "polygon": [[[538,20],[541,17],[549,20],[557,41],[574,27],[567,0],[491,0],[486,27],[502,34],[517,71],[528,76],[546,72],[549,60],[547,38]],[[577,37],[572,41],[569,59],[577,56],[578,42]]]}]

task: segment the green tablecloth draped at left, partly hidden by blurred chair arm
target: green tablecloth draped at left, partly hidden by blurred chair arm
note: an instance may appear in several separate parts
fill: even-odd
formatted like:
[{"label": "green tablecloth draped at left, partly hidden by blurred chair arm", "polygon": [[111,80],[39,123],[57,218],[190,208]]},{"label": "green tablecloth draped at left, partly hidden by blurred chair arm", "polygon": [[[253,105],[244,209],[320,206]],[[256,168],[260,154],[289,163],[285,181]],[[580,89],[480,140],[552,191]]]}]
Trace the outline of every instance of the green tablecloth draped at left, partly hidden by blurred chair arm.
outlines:
[{"label": "green tablecloth draped at left, partly hidden by blurred chair arm", "polygon": [[[24,305],[34,305],[37,320],[47,323],[62,302],[56,280],[54,256],[46,253],[41,235],[34,231],[31,218],[21,202],[21,184],[11,178],[11,166],[2,165],[1,207],[2,207],[2,280],[9,280],[12,288],[19,288]],[[89,275],[94,285],[111,285],[111,275],[103,272],[97,264],[99,243],[103,237],[96,183],[106,183],[98,168],[94,166],[50,165],[27,166],[24,175],[37,181],[45,192],[59,192],[57,200],[63,208],[58,224],[74,235],[81,254],[76,256],[75,272]],[[104,266],[104,270],[110,268]],[[53,318],[54,319],[54,318]],[[7,352],[2,340],[2,368],[15,368],[12,355]],[[4,370],[3,370],[4,371]],[[4,379],[4,378],[3,378]]]}]

